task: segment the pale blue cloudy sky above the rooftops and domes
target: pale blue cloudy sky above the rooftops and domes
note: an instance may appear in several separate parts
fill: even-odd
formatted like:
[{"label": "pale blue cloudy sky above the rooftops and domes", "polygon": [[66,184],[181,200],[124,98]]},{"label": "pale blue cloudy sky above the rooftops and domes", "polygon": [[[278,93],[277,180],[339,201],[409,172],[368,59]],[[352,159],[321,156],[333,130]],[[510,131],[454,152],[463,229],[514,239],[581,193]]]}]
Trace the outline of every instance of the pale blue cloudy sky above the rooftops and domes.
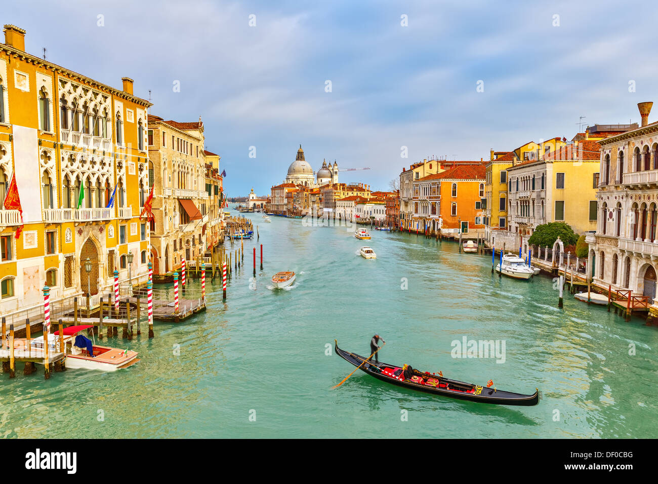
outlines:
[{"label": "pale blue cloudy sky above the rooftops and domes", "polygon": [[658,101],[657,14],[640,1],[23,0],[0,22],[27,31],[29,53],[116,88],[133,78],[155,115],[201,115],[225,191],[243,196],[269,194],[300,144],[315,171],[369,167],[340,181],[387,190],[423,158],[570,140],[581,116],[640,122],[636,104]]}]

